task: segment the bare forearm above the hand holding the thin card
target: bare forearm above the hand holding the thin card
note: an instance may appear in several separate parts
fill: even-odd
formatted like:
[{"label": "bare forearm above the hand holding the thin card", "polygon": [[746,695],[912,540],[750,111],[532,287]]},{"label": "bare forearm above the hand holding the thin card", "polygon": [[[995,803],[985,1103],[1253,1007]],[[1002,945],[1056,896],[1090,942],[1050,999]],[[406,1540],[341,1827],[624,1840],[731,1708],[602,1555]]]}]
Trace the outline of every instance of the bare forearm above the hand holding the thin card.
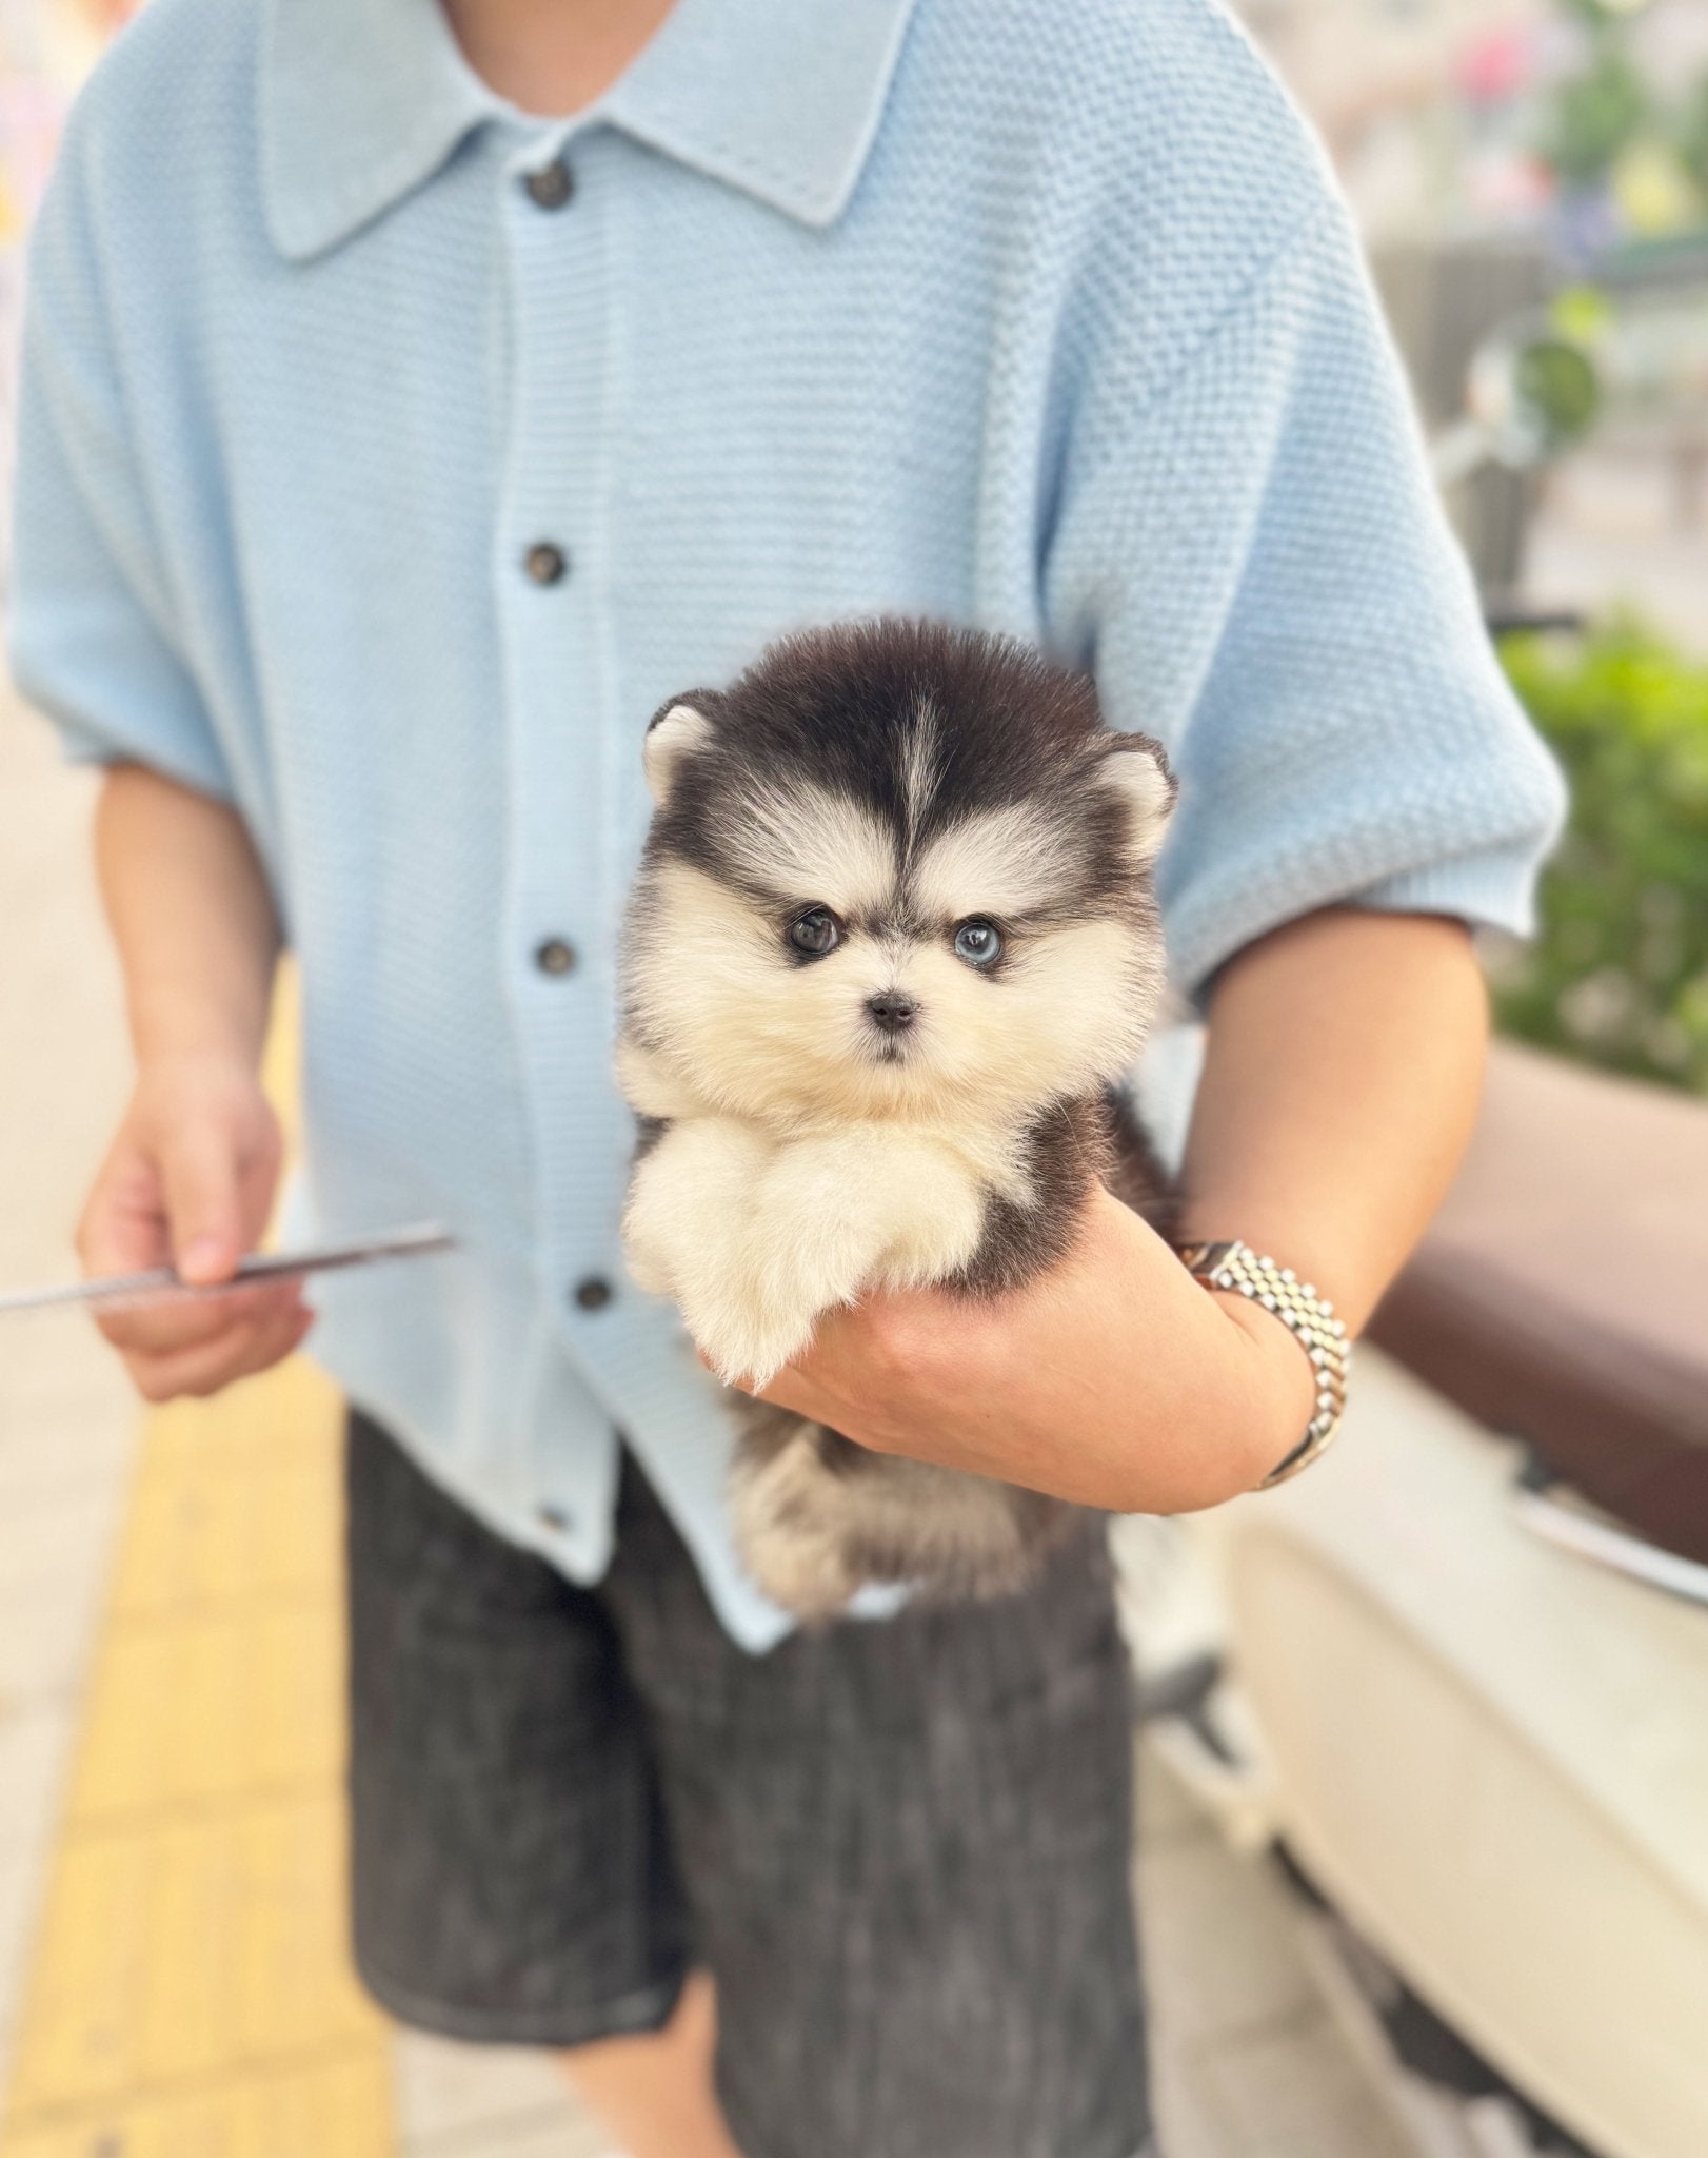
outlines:
[{"label": "bare forearm above the hand holding the thin card", "polygon": [[95,863],[138,1064],[259,1062],[278,919],[242,818],[119,764],[101,788]]}]

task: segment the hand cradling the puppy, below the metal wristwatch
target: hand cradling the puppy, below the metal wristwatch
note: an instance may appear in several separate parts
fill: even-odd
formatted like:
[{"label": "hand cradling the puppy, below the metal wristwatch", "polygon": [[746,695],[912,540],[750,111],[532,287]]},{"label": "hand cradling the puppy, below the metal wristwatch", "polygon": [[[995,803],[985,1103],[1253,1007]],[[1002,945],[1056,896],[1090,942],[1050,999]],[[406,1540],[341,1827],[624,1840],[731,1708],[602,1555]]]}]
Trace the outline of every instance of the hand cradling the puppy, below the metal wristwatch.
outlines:
[{"label": "hand cradling the puppy, below the metal wristwatch", "polygon": [[1201,1288],[1106,1191],[1016,1295],[865,1297],[826,1312],[763,1401],[873,1452],[1001,1476],[1111,1513],[1193,1513],[1298,1444],[1316,1379],[1294,1336]]}]

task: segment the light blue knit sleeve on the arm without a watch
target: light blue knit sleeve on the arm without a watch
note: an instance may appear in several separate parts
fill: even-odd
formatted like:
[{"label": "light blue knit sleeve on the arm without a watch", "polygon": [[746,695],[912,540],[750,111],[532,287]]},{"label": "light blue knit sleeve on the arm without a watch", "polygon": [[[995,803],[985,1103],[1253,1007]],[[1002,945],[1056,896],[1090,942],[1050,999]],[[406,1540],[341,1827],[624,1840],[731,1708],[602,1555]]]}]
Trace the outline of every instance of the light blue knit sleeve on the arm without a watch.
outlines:
[{"label": "light blue knit sleeve on the arm without a watch", "polygon": [[9,641],[19,691],[73,760],[151,764],[231,798],[136,470],[73,142],[30,248]]}]

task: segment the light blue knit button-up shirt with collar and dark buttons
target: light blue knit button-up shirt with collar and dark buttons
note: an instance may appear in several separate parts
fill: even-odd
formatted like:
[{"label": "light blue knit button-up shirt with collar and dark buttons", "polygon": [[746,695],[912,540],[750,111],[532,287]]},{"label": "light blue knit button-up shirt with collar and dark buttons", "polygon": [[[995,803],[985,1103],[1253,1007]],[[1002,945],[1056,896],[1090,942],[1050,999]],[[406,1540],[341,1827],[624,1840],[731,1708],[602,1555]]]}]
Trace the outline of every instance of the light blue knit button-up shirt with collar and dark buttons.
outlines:
[{"label": "light blue knit button-up shirt with collar and dark buttons", "polygon": [[1188,991],[1328,900],[1523,928],[1557,820],[1346,211],[1208,0],[679,0],[569,123],[433,0],[151,0],[22,429],[24,688],[274,880],[298,1226],[462,1239],[328,1280],[321,1360],[576,1580],[621,1429],[755,1649],[720,1405],[617,1239],[653,708],[878,609],[1096,669],[1180,770]]}]

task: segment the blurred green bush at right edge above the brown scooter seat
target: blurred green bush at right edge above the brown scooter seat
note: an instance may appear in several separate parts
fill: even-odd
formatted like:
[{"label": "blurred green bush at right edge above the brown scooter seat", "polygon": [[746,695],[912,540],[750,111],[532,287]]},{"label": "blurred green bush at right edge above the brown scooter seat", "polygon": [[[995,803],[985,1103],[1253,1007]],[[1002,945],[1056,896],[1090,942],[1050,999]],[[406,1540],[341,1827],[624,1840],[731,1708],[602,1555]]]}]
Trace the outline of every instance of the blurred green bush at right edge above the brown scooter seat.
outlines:
[{"label": "blurred green bush at right edge above the brown scooter seat", "polygon": [[1566,768],[1572,816],[1535,943],[1490,967],[1497,1021],[1708,1094],[1708,665],[1630,619],[1507,639],[1503,660]]}]

